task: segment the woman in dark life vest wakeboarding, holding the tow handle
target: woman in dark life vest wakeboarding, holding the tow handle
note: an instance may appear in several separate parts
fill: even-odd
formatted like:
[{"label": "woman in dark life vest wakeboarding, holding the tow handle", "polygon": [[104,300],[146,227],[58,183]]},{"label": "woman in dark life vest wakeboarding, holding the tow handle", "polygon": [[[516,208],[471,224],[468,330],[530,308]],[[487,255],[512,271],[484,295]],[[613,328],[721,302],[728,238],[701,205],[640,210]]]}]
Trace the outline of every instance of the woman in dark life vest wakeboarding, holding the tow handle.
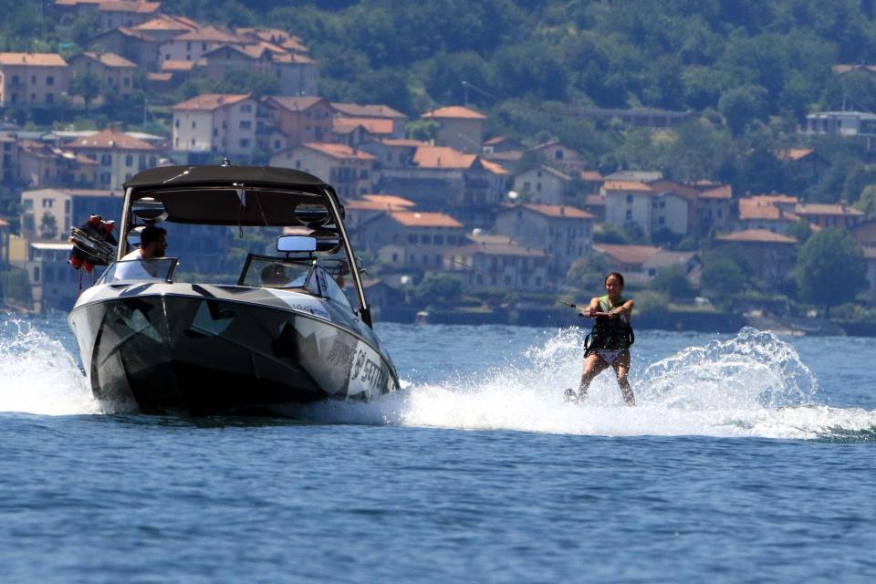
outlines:
[{"label": "woman in dark life vest wakeboarding, holding the tow handle", "polygon": [[602,371],[611,367],[618,377],[620,393],[627,405],[636,405],[627,374],[630,372],[630,346],[635,340],[632,333],[631,298],[621,297],[623,276],[611,272],[605,276],[605,291],[602,297],[594,297],[581,316],[595,318],[593,329],[584,341],[584,370],[578,391],[566,390],[568,401],[584,401],[590,382]]}]

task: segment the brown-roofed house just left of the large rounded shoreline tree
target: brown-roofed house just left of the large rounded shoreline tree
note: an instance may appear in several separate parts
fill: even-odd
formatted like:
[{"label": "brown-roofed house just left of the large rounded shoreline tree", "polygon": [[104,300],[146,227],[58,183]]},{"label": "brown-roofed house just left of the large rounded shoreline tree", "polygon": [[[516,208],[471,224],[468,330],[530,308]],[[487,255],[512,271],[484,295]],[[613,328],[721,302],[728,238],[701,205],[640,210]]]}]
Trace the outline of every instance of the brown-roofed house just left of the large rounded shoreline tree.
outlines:
[{"label": "brown-roofed house just left of the large rounded shoreline tree", "polygon": [[789,284],[797,265],[798,241],[766,229],[746,229],[714,238],[714,248],[734,246],[742,251],[754,276],[767,282]]}]

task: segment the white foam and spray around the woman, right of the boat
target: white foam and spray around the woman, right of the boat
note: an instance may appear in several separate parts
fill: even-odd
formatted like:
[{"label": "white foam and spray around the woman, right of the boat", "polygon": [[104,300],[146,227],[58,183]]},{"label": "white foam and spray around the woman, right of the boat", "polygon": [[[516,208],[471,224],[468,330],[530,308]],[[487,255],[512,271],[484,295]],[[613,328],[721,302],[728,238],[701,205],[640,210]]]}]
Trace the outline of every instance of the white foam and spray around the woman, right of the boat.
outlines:
[{"label": "white foam and spray around the woman, right of the boat", "polygon": [[580,374],[581,333],[560,331],[529,349],[520,364],[476,380],[412,385],[367,404],[308,409],[322,422],[388,423],[471,430],[630,435],[707,435],[812,439],[876,435],[876,412],[815,403],[818,385],[789,344],[745,328],[733,339],[683,349],[653,363],[633,387],[639,405],[622,405],[603,374],[583,404],[563,401]]}]

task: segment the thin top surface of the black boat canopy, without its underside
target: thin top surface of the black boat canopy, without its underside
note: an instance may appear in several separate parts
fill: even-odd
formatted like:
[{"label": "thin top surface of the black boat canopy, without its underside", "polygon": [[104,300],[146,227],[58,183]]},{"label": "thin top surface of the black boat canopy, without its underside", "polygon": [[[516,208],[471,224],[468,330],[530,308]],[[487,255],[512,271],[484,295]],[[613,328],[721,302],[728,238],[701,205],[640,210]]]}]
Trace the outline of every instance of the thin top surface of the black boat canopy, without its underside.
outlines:
[{"label": "thin top surface of the black boat canopy, without its underside", "polygon": [[181,186],[193,184],[229,185],[231,183],[264,184],[291,189],[328,186],[313,174],[291,168],[270,166],[162,166],[138,172],[124,184],[125,188]]}]

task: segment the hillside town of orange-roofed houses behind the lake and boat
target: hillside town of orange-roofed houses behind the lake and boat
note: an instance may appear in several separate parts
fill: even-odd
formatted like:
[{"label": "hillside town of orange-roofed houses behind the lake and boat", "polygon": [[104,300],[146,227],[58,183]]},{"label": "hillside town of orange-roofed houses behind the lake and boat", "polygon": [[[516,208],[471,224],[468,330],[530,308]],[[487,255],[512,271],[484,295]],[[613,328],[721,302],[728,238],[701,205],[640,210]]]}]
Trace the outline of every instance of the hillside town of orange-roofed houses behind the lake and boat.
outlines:
[{"label": "hillside town of orange-roofed houses behind the lake and boat", "polygon": [[[507,302],[499,292],[549,308],[558,297],[597,292],[580,287],[603,265],[622,271],[634,289],[681,275],[687,289],[666,290],[665,299],[709,309],[716,298],[704,291],[702,276],[716,252],[744,255],[752,269],[746,276],[787,293],[805,234],[834,227],[848,230],[863,249],[861,297],[876,302],[876,222],[848,203],[735,193],[709,176],[675,181],[648,169],[602,173],[562,141],[488,135],[487,116],[466,103],[417,115],[329,101],[320,97],[319,62],[294,31],[226,29],[141,0],[57,0],[53,9],[89,16],[97,28],[88,50],[76,55],[0,53],[0,270],[7,308],[73,305],[79,275],[67,266],[68,229],[89,214],[118,217],[123,185],[134,174],[224,158],[310,172],[331,184],[354,244],[370,261],[374,302],[387,315],[400,304],[414,311],[454,304],[412,294],[430,278],[453,280],[457,303],[474,295],[472,315]],[[836,68],[837,75],[846,72]],[[270,92],[203,92],[152,113],[144,104],[144,120],[161,118],[165,131],[128,130],[122,120],[90,129],[66,121],[70,112],[88,118],[92,109],[124,108],[138,89],[172,95],[189,81],[209,87],[244,73],[271,78]],[[683,118],[673,113],[594,115],[671,128]],[[820,112],[799,133],[872,140],[874,119]],[[811,148],[773,153],[809,181],[827,171]],[[225,255],[224,245],[214,242],[212,254]],[[215,258],[188,251],[201,271],[223,269]]]}]

